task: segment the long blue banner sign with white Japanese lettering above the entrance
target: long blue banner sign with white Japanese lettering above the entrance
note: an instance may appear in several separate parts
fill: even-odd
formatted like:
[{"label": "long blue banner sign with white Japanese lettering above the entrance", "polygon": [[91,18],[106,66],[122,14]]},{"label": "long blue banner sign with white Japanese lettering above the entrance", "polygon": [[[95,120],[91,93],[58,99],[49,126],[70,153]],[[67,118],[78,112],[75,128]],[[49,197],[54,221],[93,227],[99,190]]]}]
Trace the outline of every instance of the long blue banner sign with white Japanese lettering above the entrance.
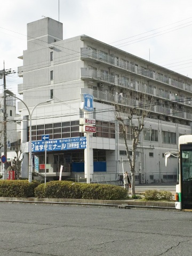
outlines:
[{"label": "long blue banner sign with white Japanese lettering above the entrance", "polygon": [[[55,139],[46,141],[46,151],[58,151],[58,150],[71,150],[71,149],[85,149],[86,137]],[[44,152],[45,141],[37,140],[31,142],[32,152]]]}]

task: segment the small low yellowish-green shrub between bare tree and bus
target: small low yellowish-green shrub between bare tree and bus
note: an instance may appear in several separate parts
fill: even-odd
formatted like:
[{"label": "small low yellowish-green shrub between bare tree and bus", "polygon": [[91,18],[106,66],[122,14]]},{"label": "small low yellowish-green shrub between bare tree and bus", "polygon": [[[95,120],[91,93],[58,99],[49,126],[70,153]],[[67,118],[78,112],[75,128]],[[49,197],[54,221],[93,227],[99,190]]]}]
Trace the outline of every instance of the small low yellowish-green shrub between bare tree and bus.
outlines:
[{"label": "small low yellowish-green shrub between bare tree and bus", "polygon": [[145,191],[145,199],[146,200],[171,200],[173,198],[173,195],[170,191],[164,191],[164,190],[146,190]]}]

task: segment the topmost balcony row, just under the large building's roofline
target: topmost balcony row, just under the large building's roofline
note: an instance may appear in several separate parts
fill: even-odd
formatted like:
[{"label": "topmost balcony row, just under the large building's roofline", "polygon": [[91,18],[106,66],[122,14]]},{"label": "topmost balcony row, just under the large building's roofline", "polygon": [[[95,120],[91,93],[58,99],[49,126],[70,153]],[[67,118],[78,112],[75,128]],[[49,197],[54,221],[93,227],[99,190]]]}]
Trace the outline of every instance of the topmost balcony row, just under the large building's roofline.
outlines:
[{"label": "topmost balcony row, just under the large building's roofline", "polygon": [[147,70],[142,67],[138,68],[138,66],[133,65],[133,63],[125,63],[123,61],[117,60],[114,57],[105,54],[102,51],[92,50],[90,48],[81,48],[81,59],[89,60],[95,63],[106,63],[109,67],[114,66],[118,69],[124,69],[126,71],[130,71],[134,74],[139,74],[145,76],[147,78],[153,79],[154,81],[158,81],[164,84],[169,84],[170,86],[176,87],[180,90],[192,92],[192,86],[189,84],[181,83],[176,81],[175,79],[166,77],[164,75],[155,73],[153,70]]}]

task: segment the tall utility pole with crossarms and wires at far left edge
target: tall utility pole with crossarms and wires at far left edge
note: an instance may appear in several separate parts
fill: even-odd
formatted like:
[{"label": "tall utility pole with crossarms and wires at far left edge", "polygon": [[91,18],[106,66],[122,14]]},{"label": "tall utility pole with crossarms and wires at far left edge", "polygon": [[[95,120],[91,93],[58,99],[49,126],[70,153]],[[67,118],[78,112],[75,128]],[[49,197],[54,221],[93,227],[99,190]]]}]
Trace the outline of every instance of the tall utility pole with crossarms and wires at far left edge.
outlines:
[{"label": "tall utility pole with crossarms and wires at far left edge", "polygon": [[[5,62],[3,61],[3,70],[0,70],[0,78],[3,77],[3,89],[4,91],[6,90],[6,75],[9,75],[9,74],[14,74],[16,73],[14,70],[11,71],[11,68],[10,69],[6,69],[5,70]],[[7,113],[6,113],[6,93],[3,92],[3,124],[4,124],[4,132],[3,132],[3,135],[4,135],[4,155],[7,157],[7,120],[6,120],[6,117],[7,117]],[[4,171],[7,170],[7,167],[8,164],[5,163],[4,164]],[[4,177],[4,179],[6,179],[6,177]]]}]

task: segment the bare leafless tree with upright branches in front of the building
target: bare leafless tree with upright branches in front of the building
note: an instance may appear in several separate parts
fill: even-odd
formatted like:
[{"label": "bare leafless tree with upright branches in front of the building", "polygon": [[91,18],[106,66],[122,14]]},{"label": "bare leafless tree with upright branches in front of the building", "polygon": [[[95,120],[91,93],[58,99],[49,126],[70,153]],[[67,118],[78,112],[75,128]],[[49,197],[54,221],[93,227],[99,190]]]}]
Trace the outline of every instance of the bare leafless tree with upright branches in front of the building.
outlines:
[{"label": "bare leafless tree with upright branches in front of the building", "polygon": [[[131,195],[135,195],[135,161],[139,137],[145,125],[145,118],[149,116],[153,107],[153,97],[145,93],[129,92],[129,98],[123,98],[115,103],[115,118],[118,121],[119,133],[122,134],[126,155],[131,170]],[[128,137],[128,133],[131,134]],[[127,140],[132,140],[132,148],[129,148]],[[132,156],[130,150],[132,150]]]}]

